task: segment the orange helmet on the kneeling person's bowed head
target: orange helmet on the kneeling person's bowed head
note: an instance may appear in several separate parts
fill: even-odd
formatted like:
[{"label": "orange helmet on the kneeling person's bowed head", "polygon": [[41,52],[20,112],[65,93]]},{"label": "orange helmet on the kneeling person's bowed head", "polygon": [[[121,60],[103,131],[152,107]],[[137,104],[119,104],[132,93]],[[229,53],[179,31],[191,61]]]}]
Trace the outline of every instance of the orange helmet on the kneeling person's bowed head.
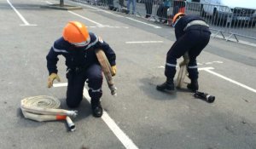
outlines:
[{"label": "orange helmet on the kneeling person's bowed head", "polygon": [[82,47],[90,43],[90,35],[86,26],[79,21],[70,21],[64,27],[63,37],[68,43]]}]

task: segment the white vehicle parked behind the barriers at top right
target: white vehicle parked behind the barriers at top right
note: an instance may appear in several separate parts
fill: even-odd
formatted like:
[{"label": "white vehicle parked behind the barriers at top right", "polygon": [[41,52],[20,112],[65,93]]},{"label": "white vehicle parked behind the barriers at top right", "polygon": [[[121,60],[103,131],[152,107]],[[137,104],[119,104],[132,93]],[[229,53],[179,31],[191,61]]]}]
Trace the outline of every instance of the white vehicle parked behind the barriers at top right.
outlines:
[{"label": "white vehicle parked behind the barriers at top right", "polygon": [[211,16],[214,23],[256,23],[255,0],[201,0],[201,15]]}]

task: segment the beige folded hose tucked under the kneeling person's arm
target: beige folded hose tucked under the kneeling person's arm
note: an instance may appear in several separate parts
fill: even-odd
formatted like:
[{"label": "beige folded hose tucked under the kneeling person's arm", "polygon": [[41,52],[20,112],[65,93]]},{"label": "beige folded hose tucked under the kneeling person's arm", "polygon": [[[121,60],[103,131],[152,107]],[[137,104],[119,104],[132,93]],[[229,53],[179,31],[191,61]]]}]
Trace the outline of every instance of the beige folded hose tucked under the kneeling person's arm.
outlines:
[{"label": "beige folded hose tucked under the kneeling person's arm", "polygon": [[114,74],[108,58],[106,56],[106,54],[104,53],[104,51],[102,49],[96,49],[96,56],[98,61],[100,62],[100,65],[102,66],[102,71],[104,73],[104,76],[106,77],[107,83],[108,83],[108,88],[111,91],[111,95],[117,95],[117,88],[115,87],[114,83],[113,83],[113,77],[112,75]]}]

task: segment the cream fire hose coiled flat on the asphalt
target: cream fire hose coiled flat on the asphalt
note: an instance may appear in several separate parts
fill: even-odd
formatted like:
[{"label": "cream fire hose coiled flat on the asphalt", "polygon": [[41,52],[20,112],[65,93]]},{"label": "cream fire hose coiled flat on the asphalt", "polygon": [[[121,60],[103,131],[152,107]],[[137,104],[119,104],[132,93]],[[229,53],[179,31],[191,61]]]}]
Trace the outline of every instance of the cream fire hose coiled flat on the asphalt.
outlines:
[{"label": "cream fire hose coiled flat on the asphalt", "polygon": [[78,112],[59,109],[60,106],[60,100],[47,95],[27,97],[20,101],[24,117],[38,122],[66,120],[68,128],[74,131],[75,125],[70,116],[76,117]]}]

